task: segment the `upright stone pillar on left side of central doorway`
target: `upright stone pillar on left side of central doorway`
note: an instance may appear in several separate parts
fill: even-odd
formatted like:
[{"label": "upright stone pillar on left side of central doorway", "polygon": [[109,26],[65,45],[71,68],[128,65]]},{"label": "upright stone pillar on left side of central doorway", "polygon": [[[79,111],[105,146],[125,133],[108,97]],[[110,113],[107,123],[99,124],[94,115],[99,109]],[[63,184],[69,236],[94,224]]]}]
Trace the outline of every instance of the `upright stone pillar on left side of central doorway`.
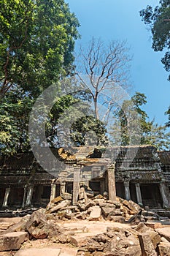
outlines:
[{"label": "upright stone pillar on left side of central doorway", "polygon": [[74,181],[73,181],[73,205],[77,203],[80,190],[80,165],[74,165]]}]

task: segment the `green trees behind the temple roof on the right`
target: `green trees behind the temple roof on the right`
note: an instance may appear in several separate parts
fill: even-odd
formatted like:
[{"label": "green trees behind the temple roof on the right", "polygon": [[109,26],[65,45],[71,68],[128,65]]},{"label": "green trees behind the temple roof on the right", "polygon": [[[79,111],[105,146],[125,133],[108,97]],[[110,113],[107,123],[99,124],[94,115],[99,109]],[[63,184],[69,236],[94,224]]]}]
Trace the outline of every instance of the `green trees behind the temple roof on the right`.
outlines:
[{"label": "green trees behind the temple roof on the right", "polygon": [[165,126],[155,124],[154,120],[148,121],[147,113],[141,108],[146,103],[146,96],[139,92],[123,102],[112,127],[113,145],[148,144],[159,150],[169,149],[170,132]]}]

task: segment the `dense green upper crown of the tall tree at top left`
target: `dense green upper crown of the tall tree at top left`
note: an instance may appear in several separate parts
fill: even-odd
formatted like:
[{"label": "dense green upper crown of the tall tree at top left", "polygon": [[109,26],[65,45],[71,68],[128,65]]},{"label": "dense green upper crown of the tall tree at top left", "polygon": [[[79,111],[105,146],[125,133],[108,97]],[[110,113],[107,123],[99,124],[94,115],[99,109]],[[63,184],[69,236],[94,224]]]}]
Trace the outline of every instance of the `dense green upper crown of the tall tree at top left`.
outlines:
[{"label": "dense green upper crown of the tall tree at top left", "polygon": [[71,74],[77,26],[63,0],[1,0],[0,97],[18,86],[38,95]]}]

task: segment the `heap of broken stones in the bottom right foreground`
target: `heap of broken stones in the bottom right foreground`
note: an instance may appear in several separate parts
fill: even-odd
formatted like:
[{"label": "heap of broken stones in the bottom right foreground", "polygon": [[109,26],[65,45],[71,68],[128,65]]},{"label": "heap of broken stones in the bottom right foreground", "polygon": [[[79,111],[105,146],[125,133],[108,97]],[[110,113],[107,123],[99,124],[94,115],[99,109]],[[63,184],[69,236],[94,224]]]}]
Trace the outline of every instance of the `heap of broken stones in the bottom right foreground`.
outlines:
[{"label": "heap of broken stones in the bottom right foreground", "polygon": [[152,230],[142,222],[134,228],[107,227],[107,232],[83,241],[77,256],[168,256],[169,231],[170,227]]}]

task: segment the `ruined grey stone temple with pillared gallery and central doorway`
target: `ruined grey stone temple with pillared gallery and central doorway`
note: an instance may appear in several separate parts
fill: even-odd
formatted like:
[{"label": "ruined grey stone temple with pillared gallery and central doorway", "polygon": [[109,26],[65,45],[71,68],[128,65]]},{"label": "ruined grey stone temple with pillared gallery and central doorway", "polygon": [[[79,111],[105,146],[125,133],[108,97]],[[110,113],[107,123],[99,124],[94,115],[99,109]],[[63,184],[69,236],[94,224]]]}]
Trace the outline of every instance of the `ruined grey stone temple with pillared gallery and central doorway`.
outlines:
[{"label": "ruined grey stone temple with pillared gallery and central doorway", "polygon": [[31,153],[1,157],[1,209],[46,206],[58,195],[72,197],[74,204],[81,186],[112,201],[117,195],[152,209],[170,208],[170,151],[154,146],[53,151],[63,162],[63,169],[53,173],[43,170]]}]

